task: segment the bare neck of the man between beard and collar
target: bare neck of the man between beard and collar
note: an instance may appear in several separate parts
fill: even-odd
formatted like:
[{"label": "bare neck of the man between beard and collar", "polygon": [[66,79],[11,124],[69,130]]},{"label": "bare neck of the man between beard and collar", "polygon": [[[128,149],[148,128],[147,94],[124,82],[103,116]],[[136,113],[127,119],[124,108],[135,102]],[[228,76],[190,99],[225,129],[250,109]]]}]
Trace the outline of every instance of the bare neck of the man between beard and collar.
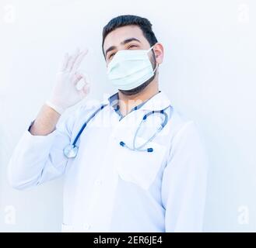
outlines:
[{"label": "bare neck of the man between beard and collar", "polygon": [[156,95],[159,92],[158,81],[155,78],[146,88],[141,92],[135,95],[124,95],[121,91],[118,91],[120,112],[122,115],[127,115],[132,108],[146,102],[149,98],[152,98],[153,95]]}]

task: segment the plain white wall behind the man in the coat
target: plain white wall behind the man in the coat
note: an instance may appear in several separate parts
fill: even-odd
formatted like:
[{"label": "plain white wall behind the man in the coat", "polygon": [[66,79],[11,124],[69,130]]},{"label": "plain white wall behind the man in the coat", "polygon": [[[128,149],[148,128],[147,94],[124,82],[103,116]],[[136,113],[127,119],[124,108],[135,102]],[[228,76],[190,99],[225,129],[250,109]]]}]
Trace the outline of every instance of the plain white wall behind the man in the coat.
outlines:
[{"label": "plain white wall behind the man in the coat", "polygon": [[59,231],[61,179],[30,191],[6,180],[12,150],[51,91],[65,51],[90,47],[89,98],[112,92],[101,54],[116,15],[153,22],[166,50],[160,88],[198,123],[209,152],[205,231],[256,231],[254,0],[0,1],[0,230]]}]

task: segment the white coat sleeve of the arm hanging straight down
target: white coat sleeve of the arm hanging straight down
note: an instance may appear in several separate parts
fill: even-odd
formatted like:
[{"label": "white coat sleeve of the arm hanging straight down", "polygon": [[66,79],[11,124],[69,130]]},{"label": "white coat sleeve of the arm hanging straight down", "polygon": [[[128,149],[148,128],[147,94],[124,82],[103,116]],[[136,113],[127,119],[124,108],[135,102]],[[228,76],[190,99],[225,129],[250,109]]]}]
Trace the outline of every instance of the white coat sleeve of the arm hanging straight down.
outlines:
[{"label": "white coat sleeve of the arm hanging straight down", "polygon": [[174,136],[163,171],[166,232],[202,232],[208,159],[194,122]]}]

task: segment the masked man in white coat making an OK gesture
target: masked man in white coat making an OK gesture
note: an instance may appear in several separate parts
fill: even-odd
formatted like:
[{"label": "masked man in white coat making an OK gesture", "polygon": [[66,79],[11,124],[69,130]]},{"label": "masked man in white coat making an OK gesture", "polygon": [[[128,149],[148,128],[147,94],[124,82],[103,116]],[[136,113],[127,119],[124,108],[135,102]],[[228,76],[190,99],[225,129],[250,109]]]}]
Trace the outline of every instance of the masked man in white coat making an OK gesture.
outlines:
[{"label": "masked man in white coat making an OK gesture", "polygon": [[88,83],[78,88],[86,51],[67,54],[51,98],[12,154],[10,184],[32,188],[63,175],[63,232],[202,231],[205,151],[195,123],[159,90],[163,45],[151,23],[110,20],[102,49],[117,93],[59,121],[89,92]]}]

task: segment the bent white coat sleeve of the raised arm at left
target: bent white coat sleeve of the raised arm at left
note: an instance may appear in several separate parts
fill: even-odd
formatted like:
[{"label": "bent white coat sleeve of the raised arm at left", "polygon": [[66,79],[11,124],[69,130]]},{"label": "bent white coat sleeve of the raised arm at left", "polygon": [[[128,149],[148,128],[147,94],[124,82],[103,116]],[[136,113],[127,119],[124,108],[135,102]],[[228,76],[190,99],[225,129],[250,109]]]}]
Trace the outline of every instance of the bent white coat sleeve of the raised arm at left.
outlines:
[{"label": "bent white coat sleeve of the raised arm at left", "polygon": [[8,166],[13,188],[32,188],[64,174],[68,160],[63,148],[70,143],[73,122],[74,116],[68,115],[47,136],[33,136],[29,129],[23,133]]}]

